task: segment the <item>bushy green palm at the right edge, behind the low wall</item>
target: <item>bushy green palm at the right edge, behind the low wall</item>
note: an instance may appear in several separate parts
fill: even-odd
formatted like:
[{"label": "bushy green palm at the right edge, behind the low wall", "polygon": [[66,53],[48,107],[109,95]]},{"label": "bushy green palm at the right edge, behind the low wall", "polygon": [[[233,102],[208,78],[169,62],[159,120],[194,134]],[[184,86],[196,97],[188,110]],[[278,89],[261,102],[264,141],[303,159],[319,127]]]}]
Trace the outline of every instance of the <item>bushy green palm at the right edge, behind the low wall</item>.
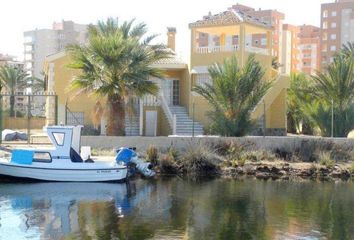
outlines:
[{"label": "bushy green palm at the right edge, behind the low wall", "polygon": [[324,136],[331,132],[332,106],[334,136],[345,137],[354,128],[354,57],[349,52],[343,49],[326,72],[312,76],[314,86],[309,93],[317,102],[307,112]]}]

